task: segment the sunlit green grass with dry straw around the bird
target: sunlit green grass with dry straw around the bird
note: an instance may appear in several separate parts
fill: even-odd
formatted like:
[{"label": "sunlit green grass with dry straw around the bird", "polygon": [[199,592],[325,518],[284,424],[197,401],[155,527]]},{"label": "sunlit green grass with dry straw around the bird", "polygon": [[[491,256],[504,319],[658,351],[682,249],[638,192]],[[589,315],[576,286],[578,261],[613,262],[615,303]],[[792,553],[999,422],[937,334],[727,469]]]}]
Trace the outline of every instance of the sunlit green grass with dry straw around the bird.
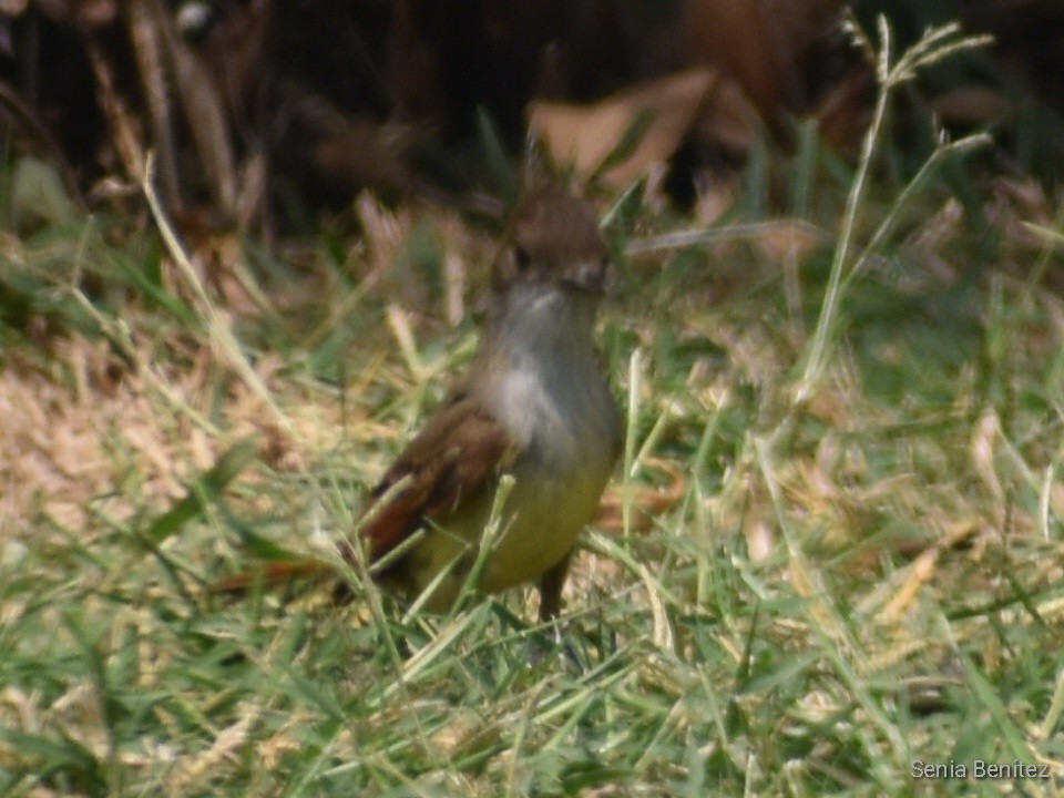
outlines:
[{"label": "sunlit green grass with dry straw around the bird", "polygon": [[[443,264],[475,295],[485,237],[362,201],[350,253],[228,237],[204,279],[129,219],[9,208],[0,795],[1060,792],[1064,307],[1010,233],[1053,224],[995,184],[974,229],[877,174],[886,139],[843,183],[804,147],[800,225],[616,208],[627,450],[572,655],[521,591],[206,590],[351,529],[469,357]],[[683,490],[644,523],[656,462]],[[912,775],[1016,759],[1051,778]]]}]

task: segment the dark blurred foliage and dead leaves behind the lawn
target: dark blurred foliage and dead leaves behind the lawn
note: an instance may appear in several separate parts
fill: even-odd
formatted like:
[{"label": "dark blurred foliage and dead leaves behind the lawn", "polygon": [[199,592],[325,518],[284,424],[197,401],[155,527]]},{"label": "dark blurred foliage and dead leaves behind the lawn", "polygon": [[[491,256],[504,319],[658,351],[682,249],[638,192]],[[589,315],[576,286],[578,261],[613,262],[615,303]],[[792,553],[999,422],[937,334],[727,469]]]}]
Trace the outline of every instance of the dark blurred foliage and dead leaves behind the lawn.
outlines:
[{"label": "dark blurred foliage and dead leaves behind the lawn", "polygon": [[[183,228],[270,234],[316,229],[364,188],[478,212],[500,192],[509,203],[499,157],[525,153],[530,101],[613,98],[607,111],[646,114],[626,98],[703,69],[712,89],[671,145],[665,183],[689,205],[707,181],[756,170],[766,144],[801,146],[806,121],[852,160],[876,88],[845,12],[838,0],[28,0],[0,18],[0,110],[9,149],[54,163],[78,205],[132,209],[154,151]],[[886,16],[899,52],[951,20],[996,39],[898,102],[902,181],[934,145],[933,119],[993,132],[988,171],[1055,185],[1058,2],[859,0],[853,12],[867,31]],[[630,139],[638,129],[630,120]]]}]

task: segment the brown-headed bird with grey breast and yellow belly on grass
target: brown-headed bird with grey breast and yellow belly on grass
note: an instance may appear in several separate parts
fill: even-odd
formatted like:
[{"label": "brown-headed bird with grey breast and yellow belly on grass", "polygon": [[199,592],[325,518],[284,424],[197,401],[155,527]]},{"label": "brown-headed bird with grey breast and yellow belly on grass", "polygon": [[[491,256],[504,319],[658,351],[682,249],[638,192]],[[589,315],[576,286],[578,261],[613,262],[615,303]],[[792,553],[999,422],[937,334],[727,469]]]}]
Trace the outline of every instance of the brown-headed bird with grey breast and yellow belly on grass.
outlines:
[{"label": "brown-headed bird with grey breast and yellow belly on grass", "polygon": [[[468,372],[374,488],[357,528],[386,590],[446,612],[480,561],[481,592],[535,582],[540,618],[560,615],[574,548],[623,443],[594,340],[611,279],[594,207],[555,184],[528,190],[491,267]],[[507,474],[498,532],[481,556]],[[320,570],[277,563],[260,579]]]}]

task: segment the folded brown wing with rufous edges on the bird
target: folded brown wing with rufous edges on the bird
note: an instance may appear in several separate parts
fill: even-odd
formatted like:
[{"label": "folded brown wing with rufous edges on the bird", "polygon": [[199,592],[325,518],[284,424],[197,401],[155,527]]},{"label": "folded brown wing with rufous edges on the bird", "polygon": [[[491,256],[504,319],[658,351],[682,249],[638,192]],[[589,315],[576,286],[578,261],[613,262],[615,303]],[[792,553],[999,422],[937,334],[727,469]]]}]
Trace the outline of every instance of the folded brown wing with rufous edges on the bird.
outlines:
[{"label": "folded brown wing with rufous edges on the bird", "polygon": [[442,521],[510,461],[513,441],[483,407],[459,398],[439,410],[374,489],[375,500],[403,478],[409,484],[387,507],[367,509],[361,534],[374,559],[383,556],[426,521]]}]

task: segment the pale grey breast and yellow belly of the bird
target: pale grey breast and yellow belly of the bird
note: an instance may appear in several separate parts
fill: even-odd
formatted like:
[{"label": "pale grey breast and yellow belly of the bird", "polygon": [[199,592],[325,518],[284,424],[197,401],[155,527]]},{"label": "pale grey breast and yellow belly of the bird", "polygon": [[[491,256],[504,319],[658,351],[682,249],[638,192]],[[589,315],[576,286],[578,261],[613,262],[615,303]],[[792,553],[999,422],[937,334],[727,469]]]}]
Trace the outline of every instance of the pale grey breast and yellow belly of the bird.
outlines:
[{"label": "pale grey breast and yellow belly of the bird", "polygon": [[[471,389],[521,450],[510,466],[514,484],[500,532],[480,574],[478,586],[489,593],[536,580],[569,554],[598,509],[620,451],[620,415],[594,350],[528,346],[511,347],[521,357],[485,361]],[[397,574],[408,595],[422,593],[448,570],[427,606],[444,610],[453,602],[477,561],[493,500],[489,484],[442,529],[426,530]]]}]

